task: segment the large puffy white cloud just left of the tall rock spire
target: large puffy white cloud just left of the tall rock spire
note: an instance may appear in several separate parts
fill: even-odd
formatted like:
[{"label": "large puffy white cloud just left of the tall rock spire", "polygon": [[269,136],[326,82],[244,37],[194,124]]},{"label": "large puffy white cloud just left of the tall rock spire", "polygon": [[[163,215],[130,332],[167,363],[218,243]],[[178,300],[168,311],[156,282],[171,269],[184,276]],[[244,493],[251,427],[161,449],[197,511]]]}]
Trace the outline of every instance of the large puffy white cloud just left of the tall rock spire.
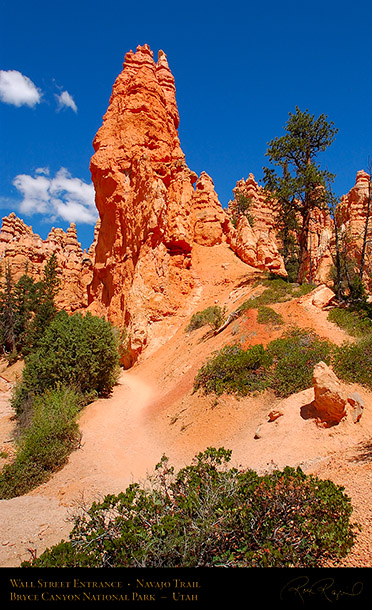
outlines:
[{"label": "large puffy white cloud just left of the tall rock spire", "polygon": [[64,167],[54,178],[45,175],[47,169],[39,168],[35,176],[20,174],[14,178],[14,186],[23,195],[20,212],[27,216],[42,214],[51,222],[62,219],[77,224],[95,224],[98,214],[93,185],[73,178]]}]

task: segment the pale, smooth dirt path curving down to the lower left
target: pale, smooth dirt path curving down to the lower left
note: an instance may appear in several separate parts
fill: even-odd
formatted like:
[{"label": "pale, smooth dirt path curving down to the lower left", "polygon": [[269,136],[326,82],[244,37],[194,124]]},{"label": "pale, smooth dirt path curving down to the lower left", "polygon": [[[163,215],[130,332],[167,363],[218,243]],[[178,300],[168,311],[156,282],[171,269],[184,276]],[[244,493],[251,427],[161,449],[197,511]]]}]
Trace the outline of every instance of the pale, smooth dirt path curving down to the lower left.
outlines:
[{"label": "pale, smooth dirt path curving down to the lower left", "polygon": [[152,470],[162,452],[151,436],[146,408],[154,390],[123,372],[113,396],[89,405],[80,418],[81,447],[54,477],[26,496],[0,501],[0,566],[17,566],[68,536],[82,501],[118,493]]}]

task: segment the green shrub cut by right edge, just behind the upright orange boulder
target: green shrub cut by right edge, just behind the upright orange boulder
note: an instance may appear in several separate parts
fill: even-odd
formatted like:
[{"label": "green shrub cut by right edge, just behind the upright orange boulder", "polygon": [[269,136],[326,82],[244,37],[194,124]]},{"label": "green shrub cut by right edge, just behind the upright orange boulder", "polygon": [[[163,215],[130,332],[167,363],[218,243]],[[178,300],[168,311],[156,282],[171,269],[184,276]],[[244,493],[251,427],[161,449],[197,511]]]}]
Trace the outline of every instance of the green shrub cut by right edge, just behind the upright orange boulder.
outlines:
[{"label": "green shrub cut by right edge, just behind the upright orange boulder", "polygon": [[344,343],[334,350],[333,369],[349,383],[372,389],[372,334],[356,343]]}]

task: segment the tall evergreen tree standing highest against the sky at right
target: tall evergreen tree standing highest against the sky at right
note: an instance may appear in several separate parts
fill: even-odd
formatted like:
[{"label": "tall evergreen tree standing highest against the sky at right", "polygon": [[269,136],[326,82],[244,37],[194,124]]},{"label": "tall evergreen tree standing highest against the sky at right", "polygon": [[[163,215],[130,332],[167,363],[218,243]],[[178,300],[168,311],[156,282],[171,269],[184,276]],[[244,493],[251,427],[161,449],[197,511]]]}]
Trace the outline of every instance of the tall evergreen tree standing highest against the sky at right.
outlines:
[{"label": "tall evergreen tree standing highest against the sky at right", "polygon": [[[281,174],[265,167],[264,184],[270,196],[279,202],[282,222],[287,218],[292,221],[294,216],[301,218],[298,236],[301,277],[301,265],[308,256],[311,212],[315,207],[326,205],[326,184],[334,180],[333,174],[320,168],[316,158],[333,142],[338,130],[325,115],[315,119],[308,110],[301,112],[298,107],[294,114],[289,113],[285,130],[284,136],[269,142],[266,152],[270,163],[279,167]],[[292,215],[288,214],[290,210]],[[310,283],[311,280],[310,277]]]}]

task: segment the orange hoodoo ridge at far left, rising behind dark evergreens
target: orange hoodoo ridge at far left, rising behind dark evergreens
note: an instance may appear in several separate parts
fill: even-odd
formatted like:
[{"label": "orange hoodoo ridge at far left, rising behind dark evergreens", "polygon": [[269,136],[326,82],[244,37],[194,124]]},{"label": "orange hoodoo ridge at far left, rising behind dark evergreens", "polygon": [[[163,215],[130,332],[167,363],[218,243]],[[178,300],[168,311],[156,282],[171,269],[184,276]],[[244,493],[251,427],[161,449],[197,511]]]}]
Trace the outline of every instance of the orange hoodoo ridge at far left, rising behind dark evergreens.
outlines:
[{"label": "orange hoodoo ridge at far left, rising behind dark evergreens", "polygon": [[52,228],[43,240],[12,212],[3,218],[0,232],[0,260],[2,276],[9,264],[14,281],[27,271],[40,280],[45,264],[55,252],[60,271],[61,286],[56,303],[68,312],[87,306],[87,285],[92,279],[92,260],[82,251],[77,241],[76,227],[71,224],[65,233]]}]

